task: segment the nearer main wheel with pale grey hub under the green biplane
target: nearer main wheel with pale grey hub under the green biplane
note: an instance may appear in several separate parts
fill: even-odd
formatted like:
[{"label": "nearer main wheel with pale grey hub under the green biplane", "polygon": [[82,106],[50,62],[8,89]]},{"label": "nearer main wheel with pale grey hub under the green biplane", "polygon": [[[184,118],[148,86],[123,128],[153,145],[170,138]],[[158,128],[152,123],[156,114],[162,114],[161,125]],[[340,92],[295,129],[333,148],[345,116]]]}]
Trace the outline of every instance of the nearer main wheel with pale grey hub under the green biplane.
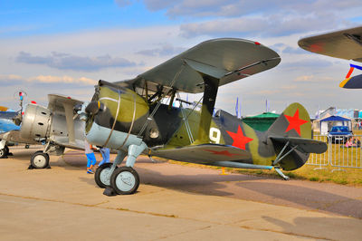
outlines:
[{"label": "nearer main wheel with pale grey hub under the green biplane", "polygon": [[128,195],[135,193],[139,186],[139,177],[135,169],[121,167],[110,176],[110,187],[118,194]]}]

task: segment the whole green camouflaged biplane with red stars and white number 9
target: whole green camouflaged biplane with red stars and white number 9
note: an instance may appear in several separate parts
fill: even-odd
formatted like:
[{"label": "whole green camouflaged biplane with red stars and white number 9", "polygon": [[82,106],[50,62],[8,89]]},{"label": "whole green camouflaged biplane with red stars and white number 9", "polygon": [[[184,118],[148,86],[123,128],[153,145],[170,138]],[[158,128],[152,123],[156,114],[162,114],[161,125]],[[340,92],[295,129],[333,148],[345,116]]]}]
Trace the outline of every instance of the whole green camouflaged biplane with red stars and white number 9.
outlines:
[{"label": "whole green camouflaged biplane with red stars and white number 9", "polygon": [[[133,167],[141,153],[220,167],[275,169],[287,179],[281,169],[298,169],[310,153],[327,149],[326,143],[311,140],[310,116],[303,106],[291,104],[265,132],[225,111],[214,113],[219,86],[280,62],[261,43],[214,39],[135,79],[100,81],[92,100],[75,108],[86,120],[91,144],[119,151],[112,164],[96,170],[96,183],[106,195],[134,193],[139,178]],[[184,108],[179,92],[204,92],[201,111]],[[119,167],[126,156],[126,165]]]}]

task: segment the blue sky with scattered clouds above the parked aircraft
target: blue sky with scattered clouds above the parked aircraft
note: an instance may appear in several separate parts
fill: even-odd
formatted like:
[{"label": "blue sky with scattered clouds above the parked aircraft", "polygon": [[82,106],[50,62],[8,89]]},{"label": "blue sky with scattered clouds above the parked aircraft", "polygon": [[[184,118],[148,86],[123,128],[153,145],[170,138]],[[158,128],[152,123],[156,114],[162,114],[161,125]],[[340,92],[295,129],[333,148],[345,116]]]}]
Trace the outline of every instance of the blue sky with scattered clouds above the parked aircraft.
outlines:
[{"label": "blue sky with scattered clouds above the parked aircraft", "polygon": [[0,105],[18,110],[20,90],[43,106],[49,93],[90,101],[100,79],[132,79],[198,43],[233,37],[270,47],[281,63],[220,87],[216,108],[235,114],[239,98],[243,116],[265,111],[266,100],[278,113],[296,101],[311,116],[362,109],[362,90],[338,87],[353,62],[298,46],[362,25],[361,13],[360,0],[0,0]]}]

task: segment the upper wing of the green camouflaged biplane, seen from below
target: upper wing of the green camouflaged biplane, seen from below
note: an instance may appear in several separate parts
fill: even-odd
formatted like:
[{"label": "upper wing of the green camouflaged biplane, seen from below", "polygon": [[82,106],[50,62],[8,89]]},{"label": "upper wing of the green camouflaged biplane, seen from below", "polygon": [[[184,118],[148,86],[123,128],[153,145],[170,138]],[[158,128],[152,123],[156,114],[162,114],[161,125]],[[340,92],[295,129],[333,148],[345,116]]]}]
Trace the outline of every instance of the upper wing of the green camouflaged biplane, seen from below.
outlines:
[{"label": "upper wing of the green camouflaged biplane, seen from below", "polygon": [[197,44],[133,80],[116,83],[123,87],[143,88],[147,82],[148,90],[152,92],[157,92],[157,86],[161,85],[166,90],[173,87],[181,92],[197,93],[204,92],[201,74],[219,79],[221,86],[269,70],[280,62],[278,53],[260,43],[214,39]]}]

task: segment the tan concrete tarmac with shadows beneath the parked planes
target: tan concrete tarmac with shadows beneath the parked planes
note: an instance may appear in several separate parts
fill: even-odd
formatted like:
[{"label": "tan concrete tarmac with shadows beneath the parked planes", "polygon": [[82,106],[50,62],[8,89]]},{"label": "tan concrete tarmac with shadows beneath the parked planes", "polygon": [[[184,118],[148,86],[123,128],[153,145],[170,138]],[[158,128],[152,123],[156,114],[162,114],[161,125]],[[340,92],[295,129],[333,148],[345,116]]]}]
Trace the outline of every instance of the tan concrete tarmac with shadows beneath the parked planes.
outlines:
[{"label": "tan concrete tarmac with shadows beneath the parked planes", "polygon": [[36,149],[10,149],[14,156],[0,159],[4,240],[362,239],[362,188],[139,158],[138,192],[106,197],[80,151],[28,170]]}]

